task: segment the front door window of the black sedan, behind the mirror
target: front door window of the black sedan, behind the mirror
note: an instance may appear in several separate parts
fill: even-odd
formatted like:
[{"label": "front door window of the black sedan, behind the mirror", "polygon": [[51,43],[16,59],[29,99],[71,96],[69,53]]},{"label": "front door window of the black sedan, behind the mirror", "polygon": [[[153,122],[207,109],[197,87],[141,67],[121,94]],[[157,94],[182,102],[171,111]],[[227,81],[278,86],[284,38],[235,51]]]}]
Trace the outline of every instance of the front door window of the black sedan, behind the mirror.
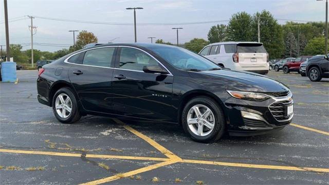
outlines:
[{"label": "front door window of the black sedan, behind the mirror", "polygon": [[122,47],[119,60],[120,69],[143,71],[144,66],[159,65],[150,55],[134,48]]}]

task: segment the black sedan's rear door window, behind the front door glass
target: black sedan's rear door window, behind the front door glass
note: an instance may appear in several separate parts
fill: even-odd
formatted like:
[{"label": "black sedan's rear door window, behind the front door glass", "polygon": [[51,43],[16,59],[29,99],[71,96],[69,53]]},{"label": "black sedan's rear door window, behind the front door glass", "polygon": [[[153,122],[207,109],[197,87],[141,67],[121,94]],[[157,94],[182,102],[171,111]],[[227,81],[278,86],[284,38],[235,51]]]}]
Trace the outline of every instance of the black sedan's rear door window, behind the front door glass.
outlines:
[{"label": "black sedan's rear door window, behind the front door glass", "polygon": [[84,54],[84,65],[99,67],[111,67],[115,47],[98,48],[86,51]]}]

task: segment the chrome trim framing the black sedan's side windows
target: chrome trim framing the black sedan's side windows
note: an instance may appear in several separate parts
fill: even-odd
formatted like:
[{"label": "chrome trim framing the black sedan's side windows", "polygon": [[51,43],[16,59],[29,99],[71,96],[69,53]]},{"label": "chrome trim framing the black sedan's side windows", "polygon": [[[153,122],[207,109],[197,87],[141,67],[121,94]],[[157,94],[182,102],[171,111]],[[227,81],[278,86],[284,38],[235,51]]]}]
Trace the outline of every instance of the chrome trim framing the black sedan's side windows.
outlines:
[{"label": "chrome trim framing the black sedan's side windows", "polygon": [[[71,63],[71,62],[68,62],[68,60],[76,55],[76,54],[79,54],[81,52],[85,52],[85,51],[89,51],[89,50],[93,50],[93,49],[99,49],[99,48],[108,48],[108,47],[127,47],[127,48],[133,48],[133,49],[138,49],[144,53],[146,53],[147,55],[149,55],[150,57],[152,57],[155,61],[157,61],[163,68],[165,68],[167,70],[167,72],[169,72],[169,74],[162,74],[162,75],[167,75],[167,76],[173,76],[173,74],[170,72],[170,70],[167,69],[166,66],[164,66],[160,61],[158,61],[156,58],[154,58],[152,56],[152,54],[142,50],[142,49],[139,49],[139,48],[136,48],[136,47],[132,47],[132,46],[102,46],[102,47],[97,47],[97,48],[90,48],[90,49],[85,49],[83,51],[79,51],[77,53],[74,53],[74,54],[71,54],[69,57],[67,57],[65,60],[64,60],[64,63],[67,63],[67,64],[75,64],[75,63]],[[127,70],[127,71],[136,71],[136,72],[144,72],[144,71],[141,71],[141,70],[132,70],[132,69],[121,69],[121,68],[116,68],[116,67],[102,67],[102,66],[94,66],[94,65],[86,65],[86,64],[75,64],[75,65],[82,65],[82,66],[89,66],[89,67],[100,67],[100,68],[107,68],[107,69],[120,69],[120,70]],[[145,72],[144,72],[145,73]]]}]

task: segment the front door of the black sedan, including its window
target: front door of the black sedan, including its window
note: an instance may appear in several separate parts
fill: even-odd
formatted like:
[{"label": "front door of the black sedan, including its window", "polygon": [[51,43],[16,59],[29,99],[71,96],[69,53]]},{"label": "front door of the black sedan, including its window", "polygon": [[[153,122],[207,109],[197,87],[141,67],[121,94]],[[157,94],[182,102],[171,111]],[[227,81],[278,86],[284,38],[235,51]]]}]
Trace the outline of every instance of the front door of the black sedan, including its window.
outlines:
[{"label": "front door of the black sedan, including its window", "polygon": [[146,73],[142,70],[146,65],[164,68],[143,50],[132,47],[118,49],[112,83],[114,112],[158,121],[175,120],[172,115],[176,110],[171,102],[173,76]]}]

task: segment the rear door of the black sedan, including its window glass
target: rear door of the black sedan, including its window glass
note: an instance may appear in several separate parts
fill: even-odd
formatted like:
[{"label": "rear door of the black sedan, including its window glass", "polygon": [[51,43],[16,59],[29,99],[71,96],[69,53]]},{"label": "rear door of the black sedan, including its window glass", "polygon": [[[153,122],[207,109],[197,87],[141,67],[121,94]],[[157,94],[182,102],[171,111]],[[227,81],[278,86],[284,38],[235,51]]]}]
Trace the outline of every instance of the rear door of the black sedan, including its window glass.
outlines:
[{"label": "rear door of the black sedan, including its window glass", "polygon": [[[84,109],[112,113],[112,76],[116,47],[93,48],[72,56],[68,77]],[[75,59],[76,58],[76,59]],[[72,60],[71,60],[72,59]]]}]

